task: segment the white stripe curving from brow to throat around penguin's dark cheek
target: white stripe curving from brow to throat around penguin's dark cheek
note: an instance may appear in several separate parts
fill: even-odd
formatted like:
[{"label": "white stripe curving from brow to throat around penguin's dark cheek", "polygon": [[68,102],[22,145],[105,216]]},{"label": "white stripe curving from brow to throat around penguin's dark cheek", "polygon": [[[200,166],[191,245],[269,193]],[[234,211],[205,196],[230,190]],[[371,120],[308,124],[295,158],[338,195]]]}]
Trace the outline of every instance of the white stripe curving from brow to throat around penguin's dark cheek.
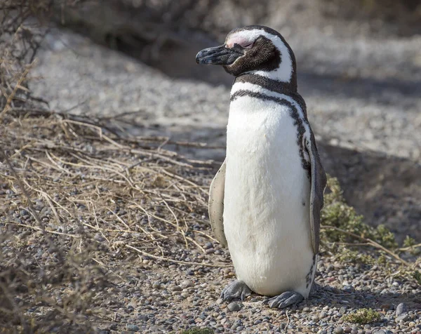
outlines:
[{"label": "white stripe curving from brow to throat around penguin's dark cheek", "polygon": [[[293,60],[291,59],[290,53],[286,45],[283,43],[282,39],[279,36],[269,34],[262,29],[253,29],[253,30],[241,30],[239,32],[234,32],[229,34],[225,41],[225,44],[228,47],[234,46],[234,44],[246,45],[253,43],[259,36],[265,36],[267,39],[270,39],[274,46],[278,48],[281,52],[281,64],[277,69],[272,71],[250,71],[249,73],[259,74],[265,76],[268,79],[279,80],[283,82],[290,82],[291,76],[293,74]],[[241,41],[239,43],[238,41]]]}]

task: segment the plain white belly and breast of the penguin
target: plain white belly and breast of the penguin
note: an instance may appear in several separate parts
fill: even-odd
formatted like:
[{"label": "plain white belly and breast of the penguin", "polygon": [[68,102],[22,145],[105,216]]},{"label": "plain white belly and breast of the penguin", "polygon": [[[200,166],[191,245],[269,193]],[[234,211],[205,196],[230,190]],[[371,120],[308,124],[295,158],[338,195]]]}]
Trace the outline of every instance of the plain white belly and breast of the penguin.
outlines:
[{"label": "plain white belly and breast of the penguin", "polygon": [[313,250],[310,184],[289,107],[243,97],[227,127],[224,227],[236,276],[256,293],[305,298]]}]

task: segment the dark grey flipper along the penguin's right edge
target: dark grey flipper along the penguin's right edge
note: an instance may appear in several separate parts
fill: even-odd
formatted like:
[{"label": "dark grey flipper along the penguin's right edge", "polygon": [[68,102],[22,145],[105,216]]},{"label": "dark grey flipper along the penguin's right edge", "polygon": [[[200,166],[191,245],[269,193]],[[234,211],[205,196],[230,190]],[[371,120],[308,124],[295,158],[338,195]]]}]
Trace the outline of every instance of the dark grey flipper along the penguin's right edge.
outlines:
[{"label": "dark grey flipper along the penguin's right edge", "polygon": [[323,208],[323,192],[326,188],[326,173],[321,165],[319,152],[317,152],[316,139],[310,133],[309,140],[305,140],[305,148],[310,158],[311,191],[310,191],[310,225],[312,231],[312,246],[314,254],[319,253],[320,243],[320,211]]}]

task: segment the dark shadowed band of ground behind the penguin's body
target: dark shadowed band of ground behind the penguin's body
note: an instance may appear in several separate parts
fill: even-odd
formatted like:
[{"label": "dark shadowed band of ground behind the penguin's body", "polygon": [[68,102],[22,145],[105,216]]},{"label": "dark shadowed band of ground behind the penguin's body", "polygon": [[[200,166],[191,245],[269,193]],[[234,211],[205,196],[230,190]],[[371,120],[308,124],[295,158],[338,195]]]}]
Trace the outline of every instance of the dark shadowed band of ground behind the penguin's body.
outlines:
[{"label": "dark shadowed band of ground behind the penguin's body", "polygon": [[[121,128],[128,124],[120,123]],[[141,124],[130,122],[139,131]],[[145,133],[142,129],[141,132]],[[165,145],[196,159],[225,159],[225,128],[159,128],[152,135],[171,135],[171,140],[206,142],[209,147]],[[387,156],[379,152],[359,151],[318,142],[319,153],[326,172],[338,178],[347,202],[364,215],[370,225],[384,224],[396,234],[399,243],[406,235],[421,241],[421,166],[410,159]],[[215,147],[215,148],[210,148]],[[215,163],[215,172],[219,168]]]}]

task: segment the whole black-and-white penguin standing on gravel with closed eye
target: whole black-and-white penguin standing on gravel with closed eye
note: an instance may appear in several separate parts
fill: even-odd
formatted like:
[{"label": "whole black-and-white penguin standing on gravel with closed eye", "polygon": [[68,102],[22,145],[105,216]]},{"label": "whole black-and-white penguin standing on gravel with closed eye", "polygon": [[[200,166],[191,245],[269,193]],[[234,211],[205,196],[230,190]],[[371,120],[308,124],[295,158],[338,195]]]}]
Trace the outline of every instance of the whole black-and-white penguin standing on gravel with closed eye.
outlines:
[{"label": "whole black-and-white penguin standing on gravel with closed eye", "polygon": [[254,291],[271,297],[269,307],[298,303],[316,272],[326,173],[297,92],[294,53],[279,32],[249,26],[200,51],[196,62],[235,76],[227,156],[209,199],[213,231],[237,278],[221,298]]}]

